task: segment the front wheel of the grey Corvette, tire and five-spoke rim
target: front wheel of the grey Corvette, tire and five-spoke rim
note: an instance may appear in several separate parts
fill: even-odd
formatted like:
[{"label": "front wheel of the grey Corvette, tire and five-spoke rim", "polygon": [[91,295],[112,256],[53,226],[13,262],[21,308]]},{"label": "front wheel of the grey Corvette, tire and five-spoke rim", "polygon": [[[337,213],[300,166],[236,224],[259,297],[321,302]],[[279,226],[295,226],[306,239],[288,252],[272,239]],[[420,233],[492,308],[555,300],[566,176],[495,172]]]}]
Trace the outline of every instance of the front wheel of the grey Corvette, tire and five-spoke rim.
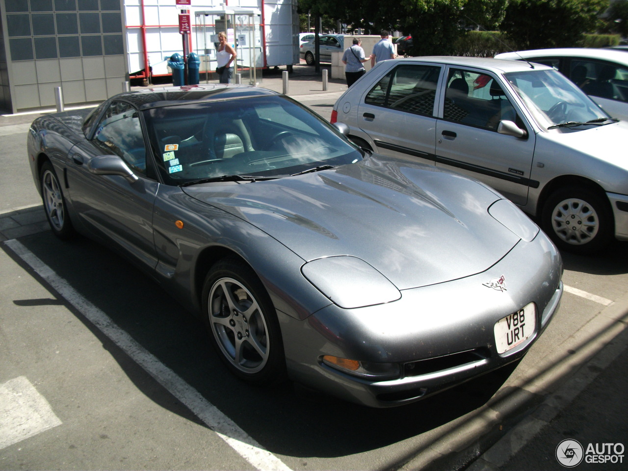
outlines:
[{"label": "front wheel of the grey Corvette, tire and five-spoke rim", "polygon": [[203,285],[203,322],[220,358],[237,377],[255,384],[284,379],[281,329],[268,293],[235,257],[217,262]]}]

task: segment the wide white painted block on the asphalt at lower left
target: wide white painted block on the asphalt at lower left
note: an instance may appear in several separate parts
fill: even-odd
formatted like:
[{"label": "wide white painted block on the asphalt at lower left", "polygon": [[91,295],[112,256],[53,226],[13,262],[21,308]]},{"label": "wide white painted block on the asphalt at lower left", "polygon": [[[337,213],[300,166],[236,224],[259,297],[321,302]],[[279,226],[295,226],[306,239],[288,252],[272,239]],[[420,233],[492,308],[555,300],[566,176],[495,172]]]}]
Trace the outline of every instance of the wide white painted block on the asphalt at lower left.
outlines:
[{"label": "wide white painted block on the asphalt at lower left", "polygon": [[26,377],[0,384],[0,450],[61,424]]}]

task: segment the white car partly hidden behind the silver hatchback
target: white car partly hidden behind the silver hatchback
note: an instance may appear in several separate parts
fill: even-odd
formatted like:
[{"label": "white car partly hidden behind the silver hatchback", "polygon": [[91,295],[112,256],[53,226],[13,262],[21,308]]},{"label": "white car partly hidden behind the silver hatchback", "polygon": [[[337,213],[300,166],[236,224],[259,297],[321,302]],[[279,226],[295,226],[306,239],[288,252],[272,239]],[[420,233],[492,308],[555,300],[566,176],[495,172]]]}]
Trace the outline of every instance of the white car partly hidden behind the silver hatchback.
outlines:
[{"label": "white car partly hidden behind the silver hatchback", "polygon": [[536,49],[505,52],[496,59],[528,60],[559,70],[604,108],[610,116],[628,120],[628,54],[593,48]]}]

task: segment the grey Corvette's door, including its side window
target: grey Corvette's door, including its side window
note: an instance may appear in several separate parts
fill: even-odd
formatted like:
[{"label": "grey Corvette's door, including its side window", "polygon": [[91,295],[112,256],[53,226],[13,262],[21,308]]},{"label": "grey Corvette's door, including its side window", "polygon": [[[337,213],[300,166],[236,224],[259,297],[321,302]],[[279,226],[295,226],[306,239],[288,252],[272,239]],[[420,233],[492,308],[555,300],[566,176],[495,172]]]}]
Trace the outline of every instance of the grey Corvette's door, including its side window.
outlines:
[{"label": "grey Corvette's door, including its side window", "polygon": [[[117,155],[138,181],[123,176],[94,175],[90,160]],[[140,117],[129,104],[112,102],[100,118],[94,136],[68,155],[68,193],[87,229],[154,268],[153,203],[159,184],[147,173],[147,147]]]}]

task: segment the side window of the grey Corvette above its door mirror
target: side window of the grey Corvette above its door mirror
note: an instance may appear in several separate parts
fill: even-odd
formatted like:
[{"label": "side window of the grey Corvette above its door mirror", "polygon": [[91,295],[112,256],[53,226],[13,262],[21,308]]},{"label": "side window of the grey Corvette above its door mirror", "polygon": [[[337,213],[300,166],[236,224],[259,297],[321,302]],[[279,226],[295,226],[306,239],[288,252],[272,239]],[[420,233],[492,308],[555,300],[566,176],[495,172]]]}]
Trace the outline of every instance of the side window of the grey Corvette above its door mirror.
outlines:
[{"label": "side window of the grey Corvette above its door mirror", "polygon": [[93,142],[104,153],[120,156],[133,171],[146,173],[146,148],[138,111],[112,102],[99,122]]}]

